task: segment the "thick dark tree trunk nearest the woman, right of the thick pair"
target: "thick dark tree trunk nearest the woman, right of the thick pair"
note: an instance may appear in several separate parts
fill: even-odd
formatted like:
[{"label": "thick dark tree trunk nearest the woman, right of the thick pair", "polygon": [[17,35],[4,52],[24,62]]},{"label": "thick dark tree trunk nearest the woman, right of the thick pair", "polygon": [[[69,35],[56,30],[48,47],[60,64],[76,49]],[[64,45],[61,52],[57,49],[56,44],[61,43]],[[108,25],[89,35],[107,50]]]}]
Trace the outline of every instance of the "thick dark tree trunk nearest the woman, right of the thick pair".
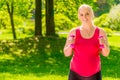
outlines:
[{"label": "thick dark tree trunk nearest the woman, right of the thick pair", "polygon": [[55,35],[53,0],[46,0],[46,36]]}]

